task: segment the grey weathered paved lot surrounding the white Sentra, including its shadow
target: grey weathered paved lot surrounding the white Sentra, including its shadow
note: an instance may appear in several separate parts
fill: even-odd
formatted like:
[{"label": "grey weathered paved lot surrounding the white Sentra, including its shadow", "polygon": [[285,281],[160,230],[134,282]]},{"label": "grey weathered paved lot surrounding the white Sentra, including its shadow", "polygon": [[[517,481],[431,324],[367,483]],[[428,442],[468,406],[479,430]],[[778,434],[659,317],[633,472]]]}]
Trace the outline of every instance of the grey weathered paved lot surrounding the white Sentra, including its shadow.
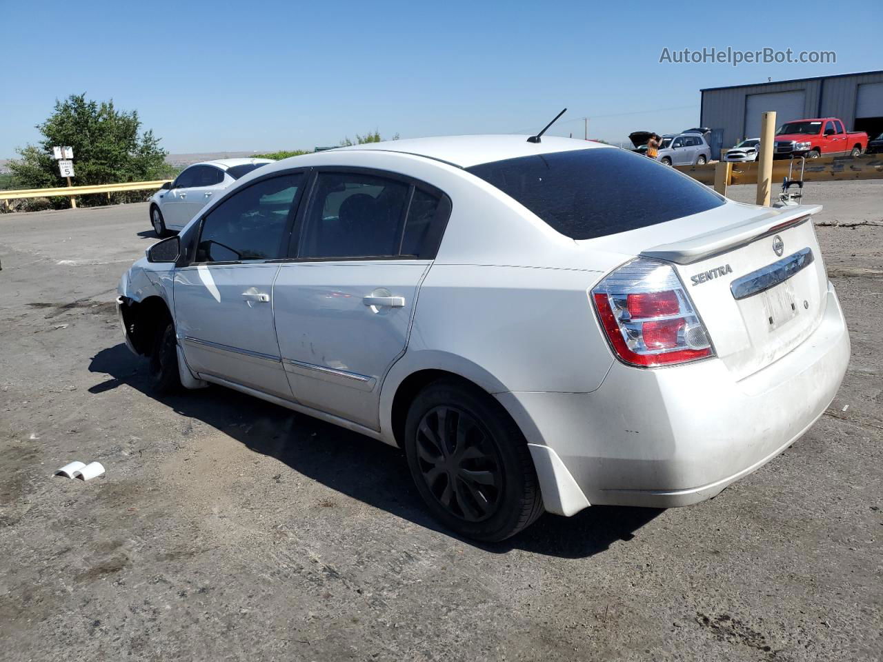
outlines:
[{"label": "grey weathered paved lot surrounding the white Sentra, including its shadow", "polygon": [[[147,395],[112,304],[147,207],[0,217],[0,658],[879,659],[883,227],[842,224],[883,220],[883,181],[807,200],[841,223],[818,232],[852,337],[827,415],[715,500],[490,546],[439,530],[392,448]],[[52,477],[73,459],[108,473]]]}]

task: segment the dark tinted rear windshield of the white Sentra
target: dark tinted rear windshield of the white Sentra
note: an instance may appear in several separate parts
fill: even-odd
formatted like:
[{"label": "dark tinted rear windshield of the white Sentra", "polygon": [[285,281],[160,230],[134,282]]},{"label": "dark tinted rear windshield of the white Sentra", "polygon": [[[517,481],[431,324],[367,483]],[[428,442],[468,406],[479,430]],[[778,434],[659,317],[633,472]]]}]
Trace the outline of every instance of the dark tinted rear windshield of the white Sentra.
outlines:
[{"label": "dark tinted rear windshield of the white Sentra", "polygon": [[724,204],[675,169],[615,147],[521,156],[467,170],[571,239],[645,228]]}]

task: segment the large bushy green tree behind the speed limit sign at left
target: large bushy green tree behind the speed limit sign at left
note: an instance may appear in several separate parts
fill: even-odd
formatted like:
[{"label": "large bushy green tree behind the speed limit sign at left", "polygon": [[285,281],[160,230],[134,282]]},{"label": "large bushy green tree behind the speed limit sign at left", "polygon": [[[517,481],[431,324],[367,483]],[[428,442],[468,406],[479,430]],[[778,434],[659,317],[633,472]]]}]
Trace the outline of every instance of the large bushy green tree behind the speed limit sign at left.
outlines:
[{"label": "large bushy green tree behind the speed limit sign at left", "polygon": [[[25,188],[64,186],[52,158],[53,146],[73,147],[77,176],[74,184],[114,184],[162,179],[170,174],[165,162],[168,152],[159,147],[154,132],[141,132],[138,111],[117,110],[113,101],[94,102],[86,94],[71,94],[56,100],[55,109],[36,128],[42,133],[37,145],[19,147],[21,158],[9,169],[16,183]],[[140,199],[143,193],[115,193],[117,201]],[[104,194],[78,197],[79,204],[106,204]],[[67,198],[53,199],[54,207],[67,207]]]}]

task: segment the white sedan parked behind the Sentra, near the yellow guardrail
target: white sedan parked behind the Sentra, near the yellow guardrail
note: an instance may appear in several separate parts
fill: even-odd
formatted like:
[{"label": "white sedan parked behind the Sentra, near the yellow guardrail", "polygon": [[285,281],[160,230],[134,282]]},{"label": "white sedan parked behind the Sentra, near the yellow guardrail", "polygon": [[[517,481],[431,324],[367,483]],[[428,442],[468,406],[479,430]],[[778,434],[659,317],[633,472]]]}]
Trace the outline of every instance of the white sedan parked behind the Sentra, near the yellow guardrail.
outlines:
[{"label": "white sedan parked behind the Sentra, near the yellow guardrail", "polygon": [[150,198],[150,224],[159,237],[184,229],[225,188],[270,159],[219,159],[193,163]]}]

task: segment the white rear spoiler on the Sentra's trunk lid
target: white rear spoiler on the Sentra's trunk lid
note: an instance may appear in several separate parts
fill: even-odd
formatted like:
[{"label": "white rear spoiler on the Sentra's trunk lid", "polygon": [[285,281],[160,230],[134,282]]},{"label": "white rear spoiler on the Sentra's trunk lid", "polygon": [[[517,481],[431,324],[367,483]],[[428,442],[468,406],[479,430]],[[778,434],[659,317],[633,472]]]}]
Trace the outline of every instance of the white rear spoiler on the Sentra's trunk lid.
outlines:
[{"label": "white rear spoiler on the Sentra's trunk lid", "polygon": [[641,255],[676,264],[691,264],[698,262],[698,260],[706,260],[721,252],[732,251],[738,246],[751,244],[752,241],[760,237],[774,235],[776,232],[809,220],[812,214],[818,214],[821,210],[821,205],[766,209],[763,214],[747,221],[737,222],[725,228],[713,229],[710,232],[673,244],[653,246],[653,248],[642,251]]}]

